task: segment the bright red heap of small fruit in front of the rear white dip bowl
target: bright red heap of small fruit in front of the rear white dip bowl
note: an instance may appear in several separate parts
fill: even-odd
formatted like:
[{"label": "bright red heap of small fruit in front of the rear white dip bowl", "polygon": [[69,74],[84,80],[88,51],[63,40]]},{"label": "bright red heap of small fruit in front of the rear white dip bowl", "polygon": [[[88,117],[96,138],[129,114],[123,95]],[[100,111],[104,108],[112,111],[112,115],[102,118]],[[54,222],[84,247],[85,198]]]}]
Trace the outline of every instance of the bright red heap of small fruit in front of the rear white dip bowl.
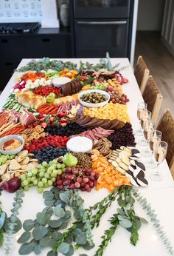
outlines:
[{"label": "bright red heap of small fruit in front of the rear white dip bowl", "polygon": [[61,88],[60,87],[54,87],[53,85],[51,87],[45,86],[45,87],[37,87],[33,90],[35,94],[42,95],[44,97],[48,96],[51,92],[55,93],[55,98],[62,97],[61,94]]}]

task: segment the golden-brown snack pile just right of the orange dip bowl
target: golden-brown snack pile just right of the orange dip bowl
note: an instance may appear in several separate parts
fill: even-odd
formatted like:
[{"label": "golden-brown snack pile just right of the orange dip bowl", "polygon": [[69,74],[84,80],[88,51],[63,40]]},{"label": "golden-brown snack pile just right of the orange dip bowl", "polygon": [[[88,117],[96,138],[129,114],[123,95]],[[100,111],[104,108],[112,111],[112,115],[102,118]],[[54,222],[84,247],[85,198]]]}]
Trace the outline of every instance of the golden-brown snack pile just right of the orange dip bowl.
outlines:
[{"label": "golden-brown snack pile just right of the orange dip bowl", "polygon": [[20,135],[24,138],[25,146],[28,146],[33,139],[45,137],[46,132],[44,132],[44,129],[41,127],[41,125],[37,125],[34,128],[24,129]]}]

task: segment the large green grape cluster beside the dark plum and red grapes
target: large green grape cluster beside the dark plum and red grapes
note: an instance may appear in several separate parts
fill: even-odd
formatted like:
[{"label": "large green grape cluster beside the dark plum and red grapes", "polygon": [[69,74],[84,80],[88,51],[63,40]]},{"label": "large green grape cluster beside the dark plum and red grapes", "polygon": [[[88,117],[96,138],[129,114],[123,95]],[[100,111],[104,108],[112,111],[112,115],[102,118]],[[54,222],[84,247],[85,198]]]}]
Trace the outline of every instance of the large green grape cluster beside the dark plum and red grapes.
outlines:
[{"label": "large green grape cluster beside the dark plum and red grapes", "polygon": [[58,163],[57,160],[50,161],[49,164],[43,162],[38,166],[21,175],[21,187],[29,190],[30,186],[38,186],[38,192],[44,192],[44,188],[52,186],[58,175],[65,172],[65,165]]}]

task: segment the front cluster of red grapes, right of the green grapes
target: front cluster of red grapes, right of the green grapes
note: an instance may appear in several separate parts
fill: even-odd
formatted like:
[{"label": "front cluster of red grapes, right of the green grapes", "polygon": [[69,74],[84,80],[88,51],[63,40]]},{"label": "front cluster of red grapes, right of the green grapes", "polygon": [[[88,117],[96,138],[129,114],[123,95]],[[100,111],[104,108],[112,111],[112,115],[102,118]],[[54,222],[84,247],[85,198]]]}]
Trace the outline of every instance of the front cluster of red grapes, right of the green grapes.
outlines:
[{"label": "front cluster of red grapes, right of the green grapes", "polygon": [[99,175],[91,168],[66,167],[66,172],[59,175],[53,185],[59,189],[68,186],[70,189],[91,192],[91,189],[97,186],[98,178]]}]

